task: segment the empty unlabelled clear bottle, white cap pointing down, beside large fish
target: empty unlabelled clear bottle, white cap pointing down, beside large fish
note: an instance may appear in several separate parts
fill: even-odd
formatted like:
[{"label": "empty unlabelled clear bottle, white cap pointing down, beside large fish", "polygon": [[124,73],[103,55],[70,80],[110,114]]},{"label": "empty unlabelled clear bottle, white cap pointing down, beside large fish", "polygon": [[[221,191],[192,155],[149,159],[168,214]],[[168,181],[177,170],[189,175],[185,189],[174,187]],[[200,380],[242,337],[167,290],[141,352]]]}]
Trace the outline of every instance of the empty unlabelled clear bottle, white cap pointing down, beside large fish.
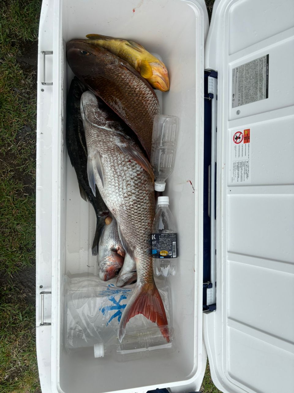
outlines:
[{"label": "empty unlabelled clear bottle, white cap pointing down, beside large fish", "polygon": [[154,117],[150,163],[156,179],[155,191],[164,191],[165,180],[174,169],[178,127],[177,116]]}]

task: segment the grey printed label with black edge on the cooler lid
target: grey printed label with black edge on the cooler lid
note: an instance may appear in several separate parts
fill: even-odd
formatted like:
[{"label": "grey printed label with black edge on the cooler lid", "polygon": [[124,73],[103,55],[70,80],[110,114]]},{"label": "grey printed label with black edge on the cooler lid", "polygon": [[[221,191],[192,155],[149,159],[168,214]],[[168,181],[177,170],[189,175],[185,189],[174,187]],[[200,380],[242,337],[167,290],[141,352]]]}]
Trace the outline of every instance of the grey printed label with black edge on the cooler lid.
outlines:
[{"label": "grey printed label with black edge on the cooler lid", "polygon": [[269,55],[232,71],[232,108],[269,98]]}]

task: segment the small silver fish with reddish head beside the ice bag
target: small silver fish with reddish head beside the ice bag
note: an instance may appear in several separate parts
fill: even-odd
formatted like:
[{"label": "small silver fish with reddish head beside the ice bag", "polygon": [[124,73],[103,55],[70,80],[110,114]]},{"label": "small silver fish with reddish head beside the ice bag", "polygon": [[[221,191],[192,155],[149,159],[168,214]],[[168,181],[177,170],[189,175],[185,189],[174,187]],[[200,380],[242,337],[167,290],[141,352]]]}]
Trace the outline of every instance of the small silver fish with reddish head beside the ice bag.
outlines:
[{"label": "small silver fish with reddish head beside the ice bag", "polygon": [[116,219],[101,230],[98,252],[99,277],[108,281],[115,277],[123,266],[125,250],[118,235]]}]

